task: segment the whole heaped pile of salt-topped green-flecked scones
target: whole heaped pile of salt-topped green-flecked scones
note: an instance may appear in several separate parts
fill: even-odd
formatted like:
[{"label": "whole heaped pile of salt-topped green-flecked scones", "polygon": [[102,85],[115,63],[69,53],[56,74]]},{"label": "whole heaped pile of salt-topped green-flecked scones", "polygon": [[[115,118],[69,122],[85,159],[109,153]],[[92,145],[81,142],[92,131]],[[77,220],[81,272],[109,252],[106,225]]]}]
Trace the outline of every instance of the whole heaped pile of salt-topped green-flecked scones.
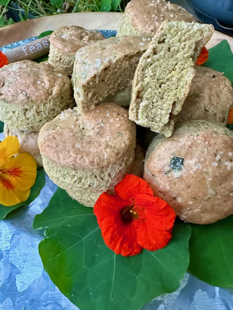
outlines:
[{"label": "whole heaped pile of salt-topped green-flecked scones", "polygon": [[[212,32],[164,0],[131,0],[115,38],[62,27],[51,36],[49,62],[73,72],[77,107],[61,112],[72,106],[69,79],[51,65],[6,66],[0,73],[5,133],[23,131],[26,148],[32,144],[26,135],[38,135],[43,125],[38,145],[46,172],[85,206],[114,193],[127,173],[142,177],[144,170],[154,195],[180,219],[222,219],[233,213],[233,134],[225,127],[233,91],[222,73],[195,66]],[[11,91],[10,82],[16,82]],[[145,162],[135,123],[137,137],[146,130],[143,140],[157,135]]]}]

